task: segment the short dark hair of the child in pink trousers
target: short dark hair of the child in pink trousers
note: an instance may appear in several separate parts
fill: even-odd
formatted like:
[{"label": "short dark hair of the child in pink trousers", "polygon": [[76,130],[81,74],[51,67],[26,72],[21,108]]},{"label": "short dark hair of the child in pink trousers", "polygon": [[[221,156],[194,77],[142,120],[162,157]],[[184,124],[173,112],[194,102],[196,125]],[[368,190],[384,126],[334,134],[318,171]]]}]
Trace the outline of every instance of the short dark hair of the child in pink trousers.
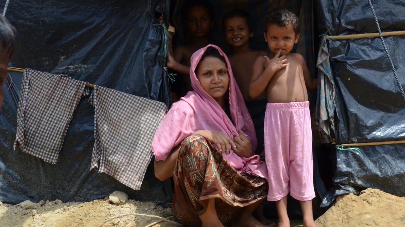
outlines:
[{"label": "short dark hair of the child in pink trousers", "polygon": [[286,8],[275,8],[264,17],[264,32],[267,32],[267,28],[272,24],[280,27],[286,27],[291,24],[295,34],[300,34],[297,15]]}]

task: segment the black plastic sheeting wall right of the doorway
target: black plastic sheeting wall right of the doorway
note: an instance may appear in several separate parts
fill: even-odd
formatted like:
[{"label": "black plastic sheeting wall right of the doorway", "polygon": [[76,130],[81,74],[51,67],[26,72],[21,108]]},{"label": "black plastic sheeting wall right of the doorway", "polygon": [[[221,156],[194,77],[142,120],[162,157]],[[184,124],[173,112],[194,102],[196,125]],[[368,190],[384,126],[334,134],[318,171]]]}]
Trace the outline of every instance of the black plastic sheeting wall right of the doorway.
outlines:
[{"label": "black plastic sheeting wall right of the doorway", "polygon": [[[405,6],[401,0],[371,1],[382,32],[405,30]],[[318,28],[328,35],[378,32],[368,1],[318,1]],[[405,87],[405,36],[385,36],[388,52],[402,87]],[[404,140],[405,101],[395,81],[381,39],[328,40],[335,81],[337,144]],[[329,205],[336,195],[359,193],[367,187],[405,196],[403,144],[359,146],[336,151],[334,188],[325,197]],[[350,147],[352,148],[352,147]]]}]

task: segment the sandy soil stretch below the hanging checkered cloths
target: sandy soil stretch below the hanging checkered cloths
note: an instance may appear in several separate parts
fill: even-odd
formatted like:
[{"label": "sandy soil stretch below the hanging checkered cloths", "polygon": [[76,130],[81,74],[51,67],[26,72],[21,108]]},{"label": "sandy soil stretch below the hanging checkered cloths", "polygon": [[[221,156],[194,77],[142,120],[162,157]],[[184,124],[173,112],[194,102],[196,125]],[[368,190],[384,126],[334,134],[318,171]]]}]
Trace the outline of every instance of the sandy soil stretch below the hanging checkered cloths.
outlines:
[{"label": "sandy soil stretch below the hanging checkered cloths", "polygon": [[[148,216],[126,215],[111,219],[122,214],[147,214]],[[11,206],[0,205],[0,226],[4,227],[98,227],[107,221],[103,227],[147,226],[160,219],[152,217],[172,216],[170,208],[162,208],[155,203],[128,200],[125,204],[115,205],[106,199],[97,199],[86,203],[62,203],[60,200],[52,202],[32,203],[24,201]],[[171,219],[173,220],[173,219]],[[162,222],[155,227],[179,226]]]}]

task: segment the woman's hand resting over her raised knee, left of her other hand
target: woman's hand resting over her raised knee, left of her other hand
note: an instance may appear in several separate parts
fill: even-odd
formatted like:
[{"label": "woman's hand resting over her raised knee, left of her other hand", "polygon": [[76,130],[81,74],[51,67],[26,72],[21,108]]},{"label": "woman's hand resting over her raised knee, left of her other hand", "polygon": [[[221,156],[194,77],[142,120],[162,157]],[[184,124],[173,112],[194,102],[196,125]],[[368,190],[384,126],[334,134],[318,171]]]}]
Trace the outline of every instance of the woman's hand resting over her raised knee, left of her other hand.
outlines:
[{"label": "woman's hand resting over her raised knee, left of her other hand", "polygon": [[198,130],[194,134],[204,136],[211,144],[217,146],[218,151],[224,155],[229,155],[230,149],[236,149],[235,143],[222,132],[210,131],[210,130]]}]

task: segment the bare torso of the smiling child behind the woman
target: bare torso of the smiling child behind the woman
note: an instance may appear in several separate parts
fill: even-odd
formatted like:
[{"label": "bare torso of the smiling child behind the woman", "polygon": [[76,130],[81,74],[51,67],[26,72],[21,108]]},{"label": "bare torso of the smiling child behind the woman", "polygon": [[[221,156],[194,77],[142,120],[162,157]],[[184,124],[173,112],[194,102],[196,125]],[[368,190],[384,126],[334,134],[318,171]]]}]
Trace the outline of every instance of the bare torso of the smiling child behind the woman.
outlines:
[{"label": "bare torso of the smiling child behind the woman", "polygon": [[266,99],[266,93],[264,92],[257,98],[252,99],[249,97],[249,82],[252,77],[253,64],[258,56],[265,54],[265,51],[249,51],[229,56],[233,76],[239,89],[241,89],[243,100],[245,101]]}]

